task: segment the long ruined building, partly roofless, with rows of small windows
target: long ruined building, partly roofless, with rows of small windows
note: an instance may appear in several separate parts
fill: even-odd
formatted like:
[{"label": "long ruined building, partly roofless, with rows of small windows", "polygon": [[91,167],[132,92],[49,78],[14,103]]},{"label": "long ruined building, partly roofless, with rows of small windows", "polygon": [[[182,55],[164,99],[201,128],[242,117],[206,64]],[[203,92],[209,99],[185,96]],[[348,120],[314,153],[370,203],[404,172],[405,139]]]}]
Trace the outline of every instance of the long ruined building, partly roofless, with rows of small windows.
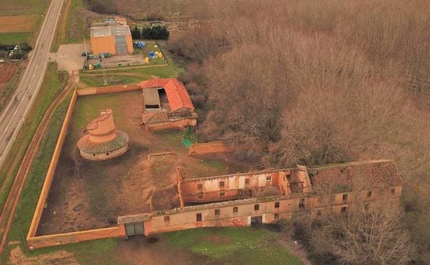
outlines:
[{"label": "long ruined building, partly roofless, with rows of small windows", "polygon": [[331,210],[347,214],[354,203],[364,209],[382,199],[398,203],[402,179],[393,161],[372,160],[207,178],[187,178],[178,169],[177,187],[180,207],[152,207],[150,213],[120,216],[118,224],[127,235],[266,224],[290,219],[298,211],[321,214],[327,209],[321,195],[325,191]]}]

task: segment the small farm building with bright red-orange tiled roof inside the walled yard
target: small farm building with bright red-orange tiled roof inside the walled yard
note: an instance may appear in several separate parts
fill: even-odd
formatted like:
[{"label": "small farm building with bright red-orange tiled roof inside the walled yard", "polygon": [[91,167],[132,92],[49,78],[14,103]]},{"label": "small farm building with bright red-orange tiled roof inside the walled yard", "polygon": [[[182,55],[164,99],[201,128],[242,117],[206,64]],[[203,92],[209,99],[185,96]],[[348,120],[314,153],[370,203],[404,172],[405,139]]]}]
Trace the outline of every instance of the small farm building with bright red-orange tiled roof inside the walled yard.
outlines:
[{"label": "small farm building with bright red-orange tiled roof inside the walled yard", "polygon": [[140,83],[143,90],[145,129],[167,129],[196,126],[190,95],[176,78],[157,78]]}]

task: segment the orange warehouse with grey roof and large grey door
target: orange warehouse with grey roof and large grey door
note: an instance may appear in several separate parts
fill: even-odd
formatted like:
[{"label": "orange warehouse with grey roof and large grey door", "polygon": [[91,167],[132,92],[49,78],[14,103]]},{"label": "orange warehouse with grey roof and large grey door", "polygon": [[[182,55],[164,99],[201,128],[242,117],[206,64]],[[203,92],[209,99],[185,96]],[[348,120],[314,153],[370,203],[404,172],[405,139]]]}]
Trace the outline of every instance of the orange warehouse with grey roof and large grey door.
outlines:
[{"label": "orange warehouse with grey roof and large grey door", "polygon": [[90,39],[93,54],[125,55],[133,52],[130,28],[125,20],[119,17],[112,22],[93,23]]}]

